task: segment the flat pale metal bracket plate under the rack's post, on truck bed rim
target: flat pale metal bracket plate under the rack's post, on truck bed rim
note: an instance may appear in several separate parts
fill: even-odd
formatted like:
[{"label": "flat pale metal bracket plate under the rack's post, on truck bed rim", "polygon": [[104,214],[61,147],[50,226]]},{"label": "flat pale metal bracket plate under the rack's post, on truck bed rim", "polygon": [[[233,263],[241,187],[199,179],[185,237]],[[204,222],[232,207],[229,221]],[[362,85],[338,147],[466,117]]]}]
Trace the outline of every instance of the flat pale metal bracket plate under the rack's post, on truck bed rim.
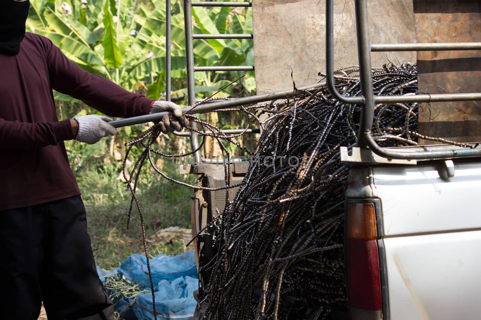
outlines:
[{"label": "flat pale metal bracket plate under the rack's post, on truck bed rim", "polygon": [[416,160],[411,159],[387,159],[383,158],[367,148],[341,147],[341,162],[346,166],[356,166],[360,164],[392,164],[392,165],[416,165]]}]

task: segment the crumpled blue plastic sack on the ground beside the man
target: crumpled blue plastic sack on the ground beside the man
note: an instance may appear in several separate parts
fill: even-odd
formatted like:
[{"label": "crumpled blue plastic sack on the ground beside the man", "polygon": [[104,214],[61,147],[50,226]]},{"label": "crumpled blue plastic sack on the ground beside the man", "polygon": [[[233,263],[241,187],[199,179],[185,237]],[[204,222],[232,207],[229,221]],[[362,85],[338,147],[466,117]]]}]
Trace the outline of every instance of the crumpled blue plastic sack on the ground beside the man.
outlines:
[{"label": "crumpled blue plastic sack on the ground beside the man", "polygon": [[[198,288],[197,267],[193,250],[171,257],[164,254],[149,260],[152,272],[152,281],[155,293],[155,308],[158,320],[192,319],[196,301],[193,291]],[[97,267],[97,272],[102,283],[105,275],[116,274],[125,276],[133,283],[139,284],[140,290],[150,290],[147,260],[144,256],[133,254],[122,261],[119,268],[105,271]],[[110,294],[110,293],[109,293]],[[137,296],[132,308],[126,307],[132,299],[120,298],[114,301],[115,311],[121,312],[125,320],[153,320],[152,294],[140,294]]]}]

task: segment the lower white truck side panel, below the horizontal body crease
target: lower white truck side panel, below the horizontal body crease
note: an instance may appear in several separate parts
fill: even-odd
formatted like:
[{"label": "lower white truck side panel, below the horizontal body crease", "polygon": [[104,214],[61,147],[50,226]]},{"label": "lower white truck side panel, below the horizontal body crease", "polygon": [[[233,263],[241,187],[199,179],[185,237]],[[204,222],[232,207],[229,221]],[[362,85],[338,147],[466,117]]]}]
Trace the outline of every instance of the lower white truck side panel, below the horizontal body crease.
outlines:
[{"label": "lower white truck side panel, below the horizontal body crease", "polygon": [[384,239],[391,320],[481,319],[481,231]]}]

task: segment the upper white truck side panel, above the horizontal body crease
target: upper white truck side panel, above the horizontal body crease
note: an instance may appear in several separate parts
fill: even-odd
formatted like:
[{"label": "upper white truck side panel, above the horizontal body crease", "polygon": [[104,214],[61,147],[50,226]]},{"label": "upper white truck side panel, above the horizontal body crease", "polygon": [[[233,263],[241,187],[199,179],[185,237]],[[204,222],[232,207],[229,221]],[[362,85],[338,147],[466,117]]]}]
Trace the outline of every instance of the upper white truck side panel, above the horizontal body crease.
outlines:
[{"label": "upper white truck side panel, above the horizontal body crease", "polygon": [[440,178],[441,169],[373,167],[384,237],[481,229],[481,163],[455,161],[453,178]]}]

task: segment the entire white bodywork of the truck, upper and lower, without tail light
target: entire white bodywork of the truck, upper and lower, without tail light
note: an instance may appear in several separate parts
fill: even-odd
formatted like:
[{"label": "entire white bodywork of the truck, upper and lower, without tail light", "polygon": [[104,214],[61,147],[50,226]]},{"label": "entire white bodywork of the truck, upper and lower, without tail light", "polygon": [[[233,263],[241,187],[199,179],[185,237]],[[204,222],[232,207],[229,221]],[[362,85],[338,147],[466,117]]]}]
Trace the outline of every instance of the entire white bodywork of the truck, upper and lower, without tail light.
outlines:
[{"label": "entire white bodywork of the truck, upper and lower, without tail light", "polygon": [[443,170],[351,169],[347,197],[381,202],[390,320],[481,319],[481,162]]}]

